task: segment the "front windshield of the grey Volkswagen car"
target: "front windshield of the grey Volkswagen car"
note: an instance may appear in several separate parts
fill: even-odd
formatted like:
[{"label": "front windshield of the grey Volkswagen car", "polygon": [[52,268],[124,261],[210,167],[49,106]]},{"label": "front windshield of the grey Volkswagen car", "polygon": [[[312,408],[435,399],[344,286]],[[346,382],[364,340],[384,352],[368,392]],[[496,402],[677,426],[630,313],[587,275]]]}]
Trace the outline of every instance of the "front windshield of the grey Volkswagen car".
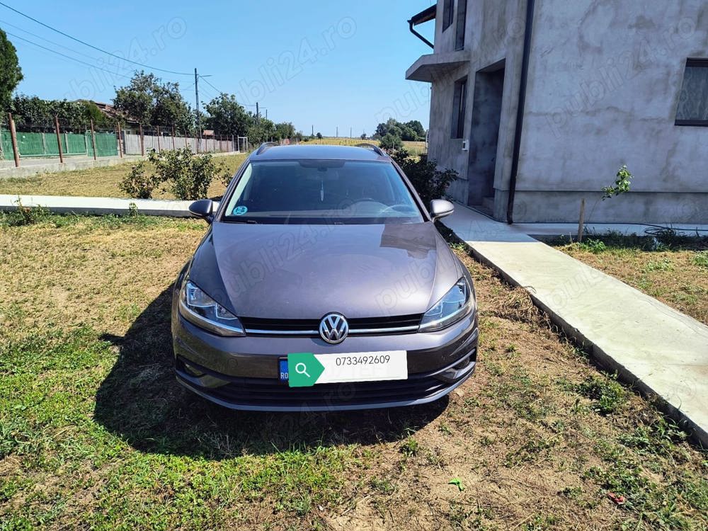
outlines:
[{"label": "front windshield of the grey Volkswagen car", "polygon": [[423,221],[392,164],[331,160],[251,162],[223,219],[268,224]]}]

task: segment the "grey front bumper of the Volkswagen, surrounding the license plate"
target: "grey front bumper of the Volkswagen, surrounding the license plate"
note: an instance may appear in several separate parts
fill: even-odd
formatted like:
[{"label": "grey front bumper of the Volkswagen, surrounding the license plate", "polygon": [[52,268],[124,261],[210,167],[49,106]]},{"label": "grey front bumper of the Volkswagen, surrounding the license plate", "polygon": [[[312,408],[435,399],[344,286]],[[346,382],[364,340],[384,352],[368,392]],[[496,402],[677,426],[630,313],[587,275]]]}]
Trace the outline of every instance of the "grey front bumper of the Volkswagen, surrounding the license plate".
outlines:
[{"label": "grey front bumper of the Volkswagen, surrounding the license plate", "polygon": [[[178,382],[216,404],[251,411],[376,409],[435,401],[472,375],[478,338],[476,313],[442,331],[350,336],[338,345],[314,337],[227,338],[186,321],[176,307],[172,333]],[[408,379],[291,388],[278,378],[278,360],[287,353],[377,350],[406,350]]]}]

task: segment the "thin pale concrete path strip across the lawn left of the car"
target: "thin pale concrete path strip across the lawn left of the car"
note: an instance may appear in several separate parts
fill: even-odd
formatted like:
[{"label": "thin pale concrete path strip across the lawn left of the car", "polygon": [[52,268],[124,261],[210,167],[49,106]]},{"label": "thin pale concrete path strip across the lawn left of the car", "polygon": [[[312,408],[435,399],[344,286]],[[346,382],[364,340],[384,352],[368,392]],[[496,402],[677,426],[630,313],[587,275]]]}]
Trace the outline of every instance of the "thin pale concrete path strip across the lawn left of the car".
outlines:
[{"label": "thin pale concrete path strip across the lawn left of the car", "polygon": [[57,213],[126,215],[131,211],[131,204],[134,204],[137,212],[147,216],[192,217],[189,212],[191,201],[80,198],[68,195],[0,195],[0,210],[17,210],[18,200],[23,207],[45,207]]}]

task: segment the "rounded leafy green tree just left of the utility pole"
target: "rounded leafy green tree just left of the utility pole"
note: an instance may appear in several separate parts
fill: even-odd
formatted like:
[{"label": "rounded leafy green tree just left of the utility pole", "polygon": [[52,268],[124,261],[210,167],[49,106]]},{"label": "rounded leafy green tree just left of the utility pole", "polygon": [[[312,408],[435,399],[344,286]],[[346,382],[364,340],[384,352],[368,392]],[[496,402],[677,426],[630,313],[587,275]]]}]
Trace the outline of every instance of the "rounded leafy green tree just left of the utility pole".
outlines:
[{"label": "rounded leafy green tree just left of the utility pole", "polygon": [[127,86],[116,89],[113,105],[146,125],[174,125],[194,131],[194,115],[179,91],[179,84],[145,72],[136,72]]}]

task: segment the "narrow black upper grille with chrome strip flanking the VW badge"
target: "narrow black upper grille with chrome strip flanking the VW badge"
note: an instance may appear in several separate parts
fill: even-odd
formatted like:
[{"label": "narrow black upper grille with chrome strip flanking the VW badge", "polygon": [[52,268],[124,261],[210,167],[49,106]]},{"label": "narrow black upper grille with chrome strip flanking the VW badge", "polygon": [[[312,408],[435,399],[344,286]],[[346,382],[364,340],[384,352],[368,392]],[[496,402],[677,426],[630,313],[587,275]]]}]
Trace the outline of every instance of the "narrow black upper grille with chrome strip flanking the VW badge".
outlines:
[{"label": "narrow black upper grille with chrome strip flanking the VW badge", "polygon": [[[382,333],[415,332],[421,324],[421,314],[390,317],[367,317],[347,319],[350,335],[374,335]],[[316,336],[319,319],[261,319],[239,317],[246,333],[252,336]]]}]

